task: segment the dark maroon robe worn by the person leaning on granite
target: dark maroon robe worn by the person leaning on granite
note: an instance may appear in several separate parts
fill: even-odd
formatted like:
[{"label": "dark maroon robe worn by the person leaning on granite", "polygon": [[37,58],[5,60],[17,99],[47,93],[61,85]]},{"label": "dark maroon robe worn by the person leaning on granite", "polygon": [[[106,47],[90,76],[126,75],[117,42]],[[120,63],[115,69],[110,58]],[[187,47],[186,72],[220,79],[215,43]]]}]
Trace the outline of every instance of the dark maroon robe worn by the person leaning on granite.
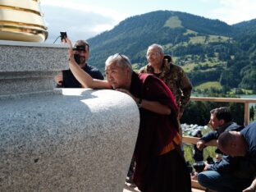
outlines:
[{"label": "dark maroon robe worn by the person leaning on granite", "polygon": [[190,174],[179,146],[159,155],[178,132],[175,99],[158,77],[150,74],[132,75],[130,93],[137,98],[157,101],[171,108],[171,115],[139,109],[139,135],[135,145],[134,181],[142,192],[191,191]]}]

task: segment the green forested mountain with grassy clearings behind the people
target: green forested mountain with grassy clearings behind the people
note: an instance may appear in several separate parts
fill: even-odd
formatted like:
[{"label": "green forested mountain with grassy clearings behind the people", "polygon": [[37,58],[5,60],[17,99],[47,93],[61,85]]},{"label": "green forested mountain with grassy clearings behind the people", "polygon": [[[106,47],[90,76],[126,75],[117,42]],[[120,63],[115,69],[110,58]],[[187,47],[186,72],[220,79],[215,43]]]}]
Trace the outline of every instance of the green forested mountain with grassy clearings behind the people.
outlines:
[{"label": "green forested mountain with grassy clearings behind the people", "polygon": [[227,25],[180,11],[153,11],[121,21],[90,43],[89,63],[104,70],[109,55],[130,57],[136,69],[146,65],[152,43],[163,46],[193,85],[218,82],[226,88],[256,91],[256,20]]}]

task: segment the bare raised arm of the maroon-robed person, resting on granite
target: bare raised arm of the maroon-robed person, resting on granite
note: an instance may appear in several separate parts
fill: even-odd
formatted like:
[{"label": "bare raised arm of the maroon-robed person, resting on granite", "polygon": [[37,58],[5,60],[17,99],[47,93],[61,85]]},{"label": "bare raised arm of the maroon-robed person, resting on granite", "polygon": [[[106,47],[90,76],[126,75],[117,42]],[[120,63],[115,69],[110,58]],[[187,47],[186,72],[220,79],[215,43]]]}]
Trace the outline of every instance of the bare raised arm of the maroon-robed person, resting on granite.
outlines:
[{"label": "bare raised arm of the maroon-robed person, resting on granite", "polygon": [[68,49],[69,67],[75,76],[75,79],[78,80],[84,88],[112,89],[112,86],[108,84],[107,80],[93,79],[88,73],[80,68],[80,66],[75,62],[70,39],[67,39],[67,43],[70,44],[70,48]]}]

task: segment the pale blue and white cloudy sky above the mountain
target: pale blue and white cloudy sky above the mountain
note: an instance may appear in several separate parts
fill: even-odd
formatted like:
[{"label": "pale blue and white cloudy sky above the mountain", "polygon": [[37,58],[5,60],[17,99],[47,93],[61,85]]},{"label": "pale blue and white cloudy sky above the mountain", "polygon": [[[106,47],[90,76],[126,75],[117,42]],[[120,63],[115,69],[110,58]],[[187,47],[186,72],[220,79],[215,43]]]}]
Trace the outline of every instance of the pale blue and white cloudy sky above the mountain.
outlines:
[{"label": "pale blue and white cloudy sky above the mountain", "polygon": [[187,12],[229,25],[256,19],[255,0],[41,0],[40,7],[48,27],[46,43],[53,43],[60,31],[72,41],[89,39],[130,16],[158,10]]}]

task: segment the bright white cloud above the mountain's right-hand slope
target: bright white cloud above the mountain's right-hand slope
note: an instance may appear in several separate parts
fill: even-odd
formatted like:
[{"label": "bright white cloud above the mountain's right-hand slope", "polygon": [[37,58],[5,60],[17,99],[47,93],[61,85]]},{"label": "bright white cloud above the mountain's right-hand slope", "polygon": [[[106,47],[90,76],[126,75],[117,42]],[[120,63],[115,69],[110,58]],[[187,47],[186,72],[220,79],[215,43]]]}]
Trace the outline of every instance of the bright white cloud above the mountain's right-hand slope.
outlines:
[{"label": "bright white cloud above the mountain's right-hand slope", "polygon": [[256,18],[255,0],[218,0],[220,7],[211,11],[212,17],[235,24],[241,21],[249,21]]}]

